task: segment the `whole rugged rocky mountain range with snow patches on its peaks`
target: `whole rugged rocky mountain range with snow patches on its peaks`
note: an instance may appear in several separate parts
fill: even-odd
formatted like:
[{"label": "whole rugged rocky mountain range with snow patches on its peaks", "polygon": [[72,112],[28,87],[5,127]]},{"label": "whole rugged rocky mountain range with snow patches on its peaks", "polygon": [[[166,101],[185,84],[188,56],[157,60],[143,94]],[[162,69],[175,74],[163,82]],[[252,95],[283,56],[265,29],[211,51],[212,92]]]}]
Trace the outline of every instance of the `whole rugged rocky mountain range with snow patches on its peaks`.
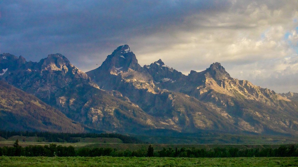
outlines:
[{"label": "whole rugged rocky mountain range with snow patches on its peaks", "polygon": [[[25,117],[55,111],[63,113],[59,120],[67,120],[67,125],[59,126],[69,131],[75,128],[132,134],[169,130],[298,135],[297,93],[278,94],[232,78],[218,62],[204,71],[192,70],[184,75],[161,59],[142,67],[130,47],[122,45],[100,67],[86,73],[59,53],[40,62],[27,62],[22,56],[3,53],[0,70],[0,80],[6,82],[1,84],[24,91],[31,99],[35,96],[34,101],[40,99],[42,102],[38,103],[50,110],[31,112],[27,107],[30,111],[26,115],[11,112],[12,116],[24,117],[19,121],[24,129],[30,127],[23,124],[35,122],[26,122]],[[4,102],[7,99],[0,97],[4,99],[0,104],[8,106]],[[15,98],[26,101],[24,96]],[[32,105],[32,100],[27,101],[24,104]],[[13,106],[11,103],[8,107]],[[5,108],[0,110],[4,113]],[[6,119],[5,115],[1,114],[0,119]],[[52,124],[59,120],[52,120]]]}]

